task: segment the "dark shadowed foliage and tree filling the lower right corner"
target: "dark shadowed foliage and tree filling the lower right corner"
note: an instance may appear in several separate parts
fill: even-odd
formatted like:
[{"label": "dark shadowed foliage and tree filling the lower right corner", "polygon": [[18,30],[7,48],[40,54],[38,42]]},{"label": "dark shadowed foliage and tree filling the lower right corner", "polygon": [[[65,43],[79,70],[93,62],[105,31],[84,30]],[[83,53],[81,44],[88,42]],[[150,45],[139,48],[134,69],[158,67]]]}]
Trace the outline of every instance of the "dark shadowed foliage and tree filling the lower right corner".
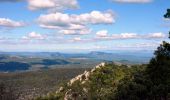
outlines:
[{"label": "dark shadowed foliage and tree filling the lower right corner", "polygon": [[[170,9],[164,17],[170,18]],[[170,44],[163,41],[154,55],[146,70],[134,76],[132,81],[125,80],[118,86],[117,100],[170,99]]]}]

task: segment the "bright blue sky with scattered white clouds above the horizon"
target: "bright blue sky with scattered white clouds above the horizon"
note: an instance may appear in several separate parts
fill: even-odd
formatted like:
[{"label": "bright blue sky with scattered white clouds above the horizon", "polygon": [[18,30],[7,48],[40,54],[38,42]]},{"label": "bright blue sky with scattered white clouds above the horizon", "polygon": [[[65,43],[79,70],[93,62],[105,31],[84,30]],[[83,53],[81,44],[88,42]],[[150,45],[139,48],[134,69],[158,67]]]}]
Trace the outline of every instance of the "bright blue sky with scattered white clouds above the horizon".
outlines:
[{"label": "bright blue sky with scattered white clouds above the horizon", "polygon": [[155,50],[169,0],[0,0],[0,51]]}]

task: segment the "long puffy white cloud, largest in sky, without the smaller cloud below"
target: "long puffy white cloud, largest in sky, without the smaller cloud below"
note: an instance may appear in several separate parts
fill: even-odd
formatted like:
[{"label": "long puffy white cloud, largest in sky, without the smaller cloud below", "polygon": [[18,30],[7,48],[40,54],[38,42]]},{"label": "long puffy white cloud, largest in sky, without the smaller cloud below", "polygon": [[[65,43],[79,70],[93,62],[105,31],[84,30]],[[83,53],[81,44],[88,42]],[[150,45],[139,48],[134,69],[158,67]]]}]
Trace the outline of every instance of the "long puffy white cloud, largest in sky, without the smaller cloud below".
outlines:
[{"label": "long puffy white cloud, largest in sky, without the smaller cloud below", "polygon": [[81,28],[85,24],[112,24],[115,22],[114,15],[111,12],[92,11],[90,13],[75,15],[63,14],[60,12],[41,15],[38,18],[40,26],[46,28]]}]

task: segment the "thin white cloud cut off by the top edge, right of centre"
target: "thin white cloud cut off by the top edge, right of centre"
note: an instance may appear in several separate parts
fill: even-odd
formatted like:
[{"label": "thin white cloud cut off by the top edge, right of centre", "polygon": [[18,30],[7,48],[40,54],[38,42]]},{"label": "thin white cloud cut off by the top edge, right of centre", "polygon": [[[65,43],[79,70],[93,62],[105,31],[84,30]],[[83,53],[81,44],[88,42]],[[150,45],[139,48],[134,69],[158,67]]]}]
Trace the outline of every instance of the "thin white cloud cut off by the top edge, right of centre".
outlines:
[{"label": "thin white cloud cut off by the top edge, right of centre", "polygon": [[150,3],[153,0],[111,0],[111,1],[119,3]]}]

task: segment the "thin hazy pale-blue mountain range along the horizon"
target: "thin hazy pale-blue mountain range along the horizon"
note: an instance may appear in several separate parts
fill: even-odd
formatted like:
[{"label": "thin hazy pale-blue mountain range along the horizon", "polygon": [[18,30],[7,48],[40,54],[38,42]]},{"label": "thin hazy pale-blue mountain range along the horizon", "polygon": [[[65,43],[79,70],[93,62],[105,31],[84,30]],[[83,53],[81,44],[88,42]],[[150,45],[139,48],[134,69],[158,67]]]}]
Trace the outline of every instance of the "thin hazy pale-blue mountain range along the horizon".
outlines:
[{"label": "thin hazy pale-blue mountain range along the horizon", "polygon": [[[60,53],[60,52],[0,52],[0,55],[30,57],[30,58],[86,58],[106,61],[123,61],[131,63],[147,63],[153,56],[153,52],[136,51],[136,52],[100,52],[92,51],[89,53]],[[0,59],[2,59],[0,57]]]}]

